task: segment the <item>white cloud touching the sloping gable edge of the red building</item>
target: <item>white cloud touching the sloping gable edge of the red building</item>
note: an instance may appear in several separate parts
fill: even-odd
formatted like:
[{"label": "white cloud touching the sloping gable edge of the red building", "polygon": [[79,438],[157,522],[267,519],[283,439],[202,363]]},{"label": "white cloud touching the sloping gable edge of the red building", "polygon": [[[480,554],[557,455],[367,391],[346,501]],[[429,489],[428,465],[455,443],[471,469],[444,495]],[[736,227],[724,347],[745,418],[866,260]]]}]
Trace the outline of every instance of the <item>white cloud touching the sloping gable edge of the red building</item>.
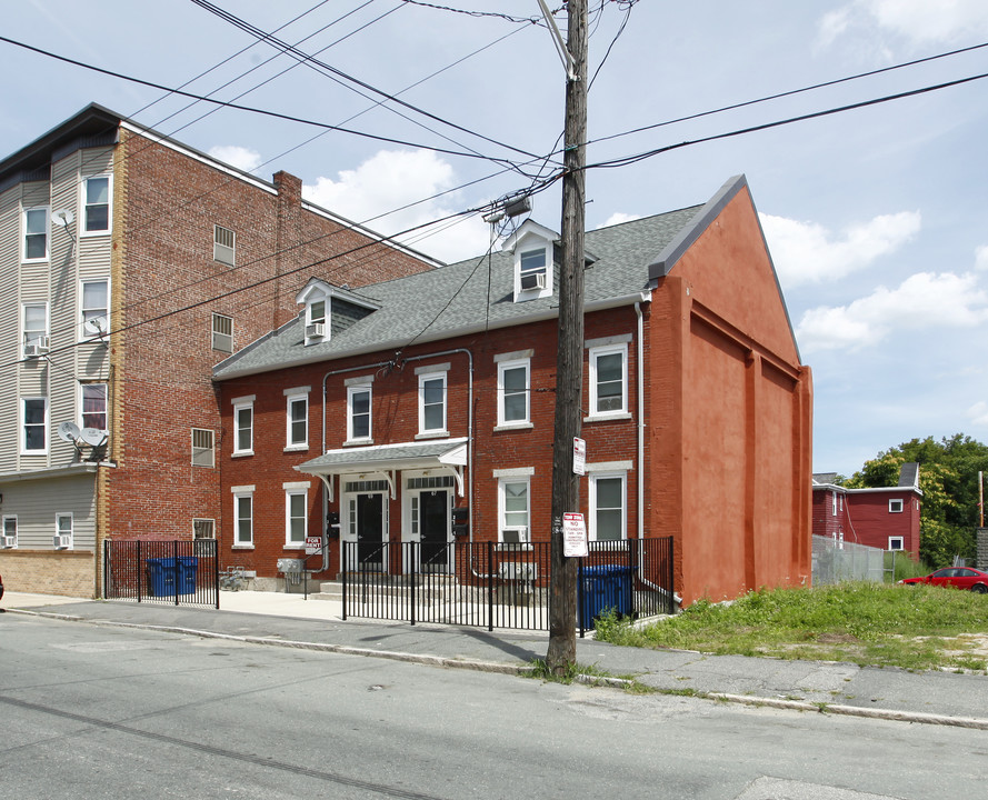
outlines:
[{"label": "white cloud touching the sloping gable edge of the red building", "polygon": [[882,214],[835,237],[816,222],[760,214],[772,261],[785,288],[834,280],[869,267],[912,239],[921,224],[918,211]]}]

